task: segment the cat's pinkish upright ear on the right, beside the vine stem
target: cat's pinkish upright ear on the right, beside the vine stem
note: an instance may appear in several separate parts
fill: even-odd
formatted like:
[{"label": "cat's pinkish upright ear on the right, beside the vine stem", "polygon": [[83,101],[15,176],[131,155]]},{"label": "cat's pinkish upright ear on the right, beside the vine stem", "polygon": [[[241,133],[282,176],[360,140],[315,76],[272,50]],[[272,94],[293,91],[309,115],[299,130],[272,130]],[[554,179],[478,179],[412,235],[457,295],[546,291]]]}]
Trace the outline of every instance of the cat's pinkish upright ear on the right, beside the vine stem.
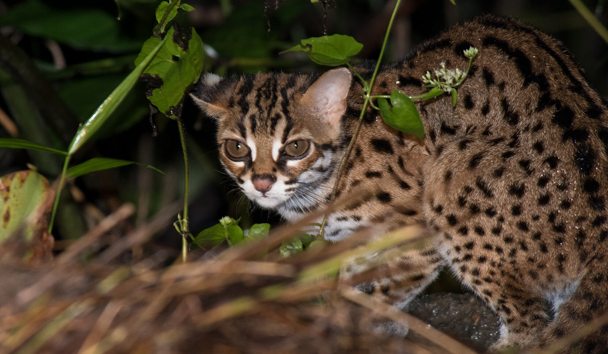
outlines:
[{"label": "cat's pinkish upright ear on the right, beside the vine stem", "polygon": [[336,126],[346,111],[346,97],[351,81],[353,75],[347,68],[329,70],[306,90],[300,104],[308,107],[312,114],[330,126]]}]

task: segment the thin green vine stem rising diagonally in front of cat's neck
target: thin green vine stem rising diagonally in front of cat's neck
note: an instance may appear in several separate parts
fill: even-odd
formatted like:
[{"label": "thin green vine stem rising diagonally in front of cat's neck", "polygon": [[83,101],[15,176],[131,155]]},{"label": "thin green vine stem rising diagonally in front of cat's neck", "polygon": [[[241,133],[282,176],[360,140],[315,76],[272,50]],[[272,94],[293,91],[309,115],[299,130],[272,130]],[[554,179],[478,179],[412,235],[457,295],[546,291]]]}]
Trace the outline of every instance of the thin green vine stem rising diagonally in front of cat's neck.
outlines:
[{"label": "thin green vine stem rising diagonally in front of cat's neck", "polygon": [[[340,184],[340,177],[342,177],[342,172],[344,172],[344,167],[348,161],[348,156],[350,152],[353,150],[354,142],[357,140],[357,135],[359,135],[359,130],[361,129],[361,124],[363,123],[363,117],[365,116],[365,111],[367,111],[367,105],[371,104],[371,89],[374,86],[374,81],[376,80],[376,76],[378,75],[378,69],[380,68],[380,63],[382,62],[382,56],[384,56],[384,49],[386,49],[386,43],[389,41],[390,29],[393,27],[393,21],[395,20],[395,16],[397,15],[397,10],[399,9],[399,4],[401,0],[397,0],[395,4],[395,9],[393,9],[393,14],[390,16],[389,26],[386,29],[386,33],[384,35],[384,41],[382,42],[382,48],[380,49],[380,55],[378,55],[378,61],[376,62],[376,67],[374,68],[373,75],[371,75],[370,83],[368,85],[367,92],[364,95],[363,108],[361,109],[361,114],[359,115],[359,122],[357,123],[356,128],[353,132],[353,138],[351,138],[350,143],[348,144],[348,148],[342,157],[342,161],[340,161],[340,165],[338,167],[338,172],[336,175],[336,182],[334,183],[334,188],[331,191],[330,203],[333,203],[334,199],[336,199],[336,193],[338,190],[338,185]],[[356,72],[353,67],[348,64],[348,67],[362,80],[361,75]],[[365,86],[365,80],[362,80]],[[328,213],[325,213],[323,216],[323,222],[321,222],[321,228],[319,230],[319,237],[323,238],[323,233],[325,232],[325,224],[327,223]]]}]

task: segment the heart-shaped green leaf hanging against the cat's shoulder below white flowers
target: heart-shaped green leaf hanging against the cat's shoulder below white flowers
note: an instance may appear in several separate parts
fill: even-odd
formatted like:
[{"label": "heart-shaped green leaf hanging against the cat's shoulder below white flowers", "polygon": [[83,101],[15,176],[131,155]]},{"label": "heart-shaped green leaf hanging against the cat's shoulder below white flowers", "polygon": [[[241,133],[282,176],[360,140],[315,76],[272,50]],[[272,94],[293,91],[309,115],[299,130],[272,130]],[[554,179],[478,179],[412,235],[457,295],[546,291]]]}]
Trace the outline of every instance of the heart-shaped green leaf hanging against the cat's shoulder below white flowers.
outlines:
[{"label": "heart-shaped green leaf hanging against the cat's shoulder below white flowers", "polygon": [[420,114],[413,101],[398,90],[390,94],[390,103],[384,98],[378,98],[378,106],[384,121],[393,128],[416,135],[424,139],[424,126],[420,120]]}]

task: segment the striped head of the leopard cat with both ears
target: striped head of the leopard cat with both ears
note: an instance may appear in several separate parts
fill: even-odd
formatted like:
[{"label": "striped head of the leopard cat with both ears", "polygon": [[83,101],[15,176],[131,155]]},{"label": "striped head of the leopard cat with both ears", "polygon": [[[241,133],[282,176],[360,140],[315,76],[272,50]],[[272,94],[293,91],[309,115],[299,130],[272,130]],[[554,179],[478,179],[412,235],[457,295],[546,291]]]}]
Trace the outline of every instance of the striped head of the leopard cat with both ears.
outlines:
[{"label": "striped head of the leopard cat with both ears", "polygon": [[[220,78],[206,73],[191,95],[218,123],[221,162],[250,200],[275,209],[296,200],[309,209],[333,178],[340,117],[352,75],[314,80],[294,73]],[[295,197],[295,198],[294,198]]]}]

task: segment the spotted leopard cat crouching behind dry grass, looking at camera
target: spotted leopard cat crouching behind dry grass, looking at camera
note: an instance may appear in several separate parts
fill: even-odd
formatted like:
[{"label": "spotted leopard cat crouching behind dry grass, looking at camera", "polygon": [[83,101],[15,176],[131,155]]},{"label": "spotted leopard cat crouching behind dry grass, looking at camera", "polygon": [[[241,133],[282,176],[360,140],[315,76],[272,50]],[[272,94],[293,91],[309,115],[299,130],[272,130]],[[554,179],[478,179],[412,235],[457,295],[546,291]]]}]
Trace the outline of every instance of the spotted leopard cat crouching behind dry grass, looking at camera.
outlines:
[{"label": "spotted leopard cat crouching behind dry grass, looking at camera", "polygon": [[[424,73],[466,70],[471,46],[456,106],[416,101],[424,140],[366,112],[338,190],[373,193],[330,214],[325,237],[423,223],[433,246],[360,288],[406,304],[447,265],[499,314],[495,349],[545,347],[608,311],[608,111],[561,43],[497,16],[382,64],[373,94],[424,94]],[[370,80],[374,66],[356,70]],[[221,162],[249,199],[289,222],[328,203],[362,109],[350,70],[206,74],[192,97],[215,117]],[[561,350],[607,352],[608,325],[593,330]]]}]

